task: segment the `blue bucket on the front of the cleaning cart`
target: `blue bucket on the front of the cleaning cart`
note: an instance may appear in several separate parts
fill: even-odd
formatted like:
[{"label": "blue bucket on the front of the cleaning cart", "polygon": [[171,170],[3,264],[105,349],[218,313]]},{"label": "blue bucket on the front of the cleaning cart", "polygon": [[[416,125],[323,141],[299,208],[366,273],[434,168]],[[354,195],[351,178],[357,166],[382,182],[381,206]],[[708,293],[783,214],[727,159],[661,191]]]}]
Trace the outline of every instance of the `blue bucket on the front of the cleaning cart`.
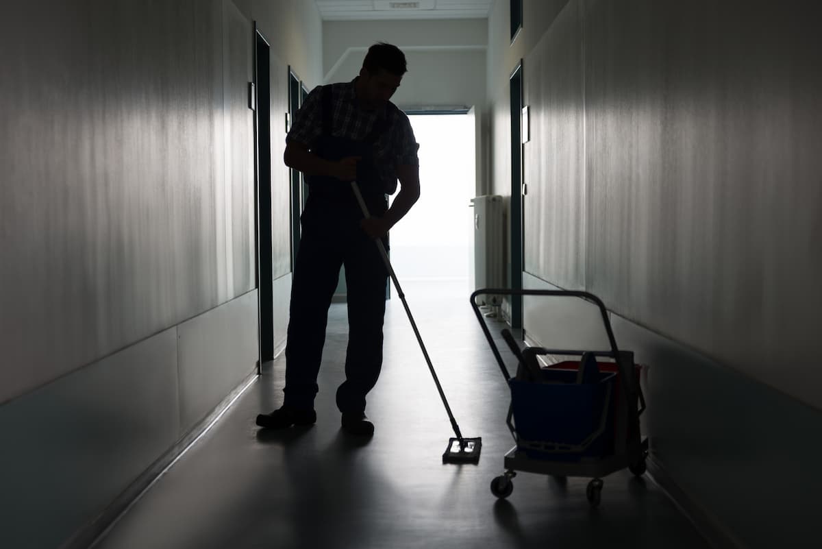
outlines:
[{"label": "blue bucket on the front of the cleaning cart", "polygon": [[531,459],[580,461],[613,453],[617,374],[547,368],[538,383],[510,379],[517,448]]}]

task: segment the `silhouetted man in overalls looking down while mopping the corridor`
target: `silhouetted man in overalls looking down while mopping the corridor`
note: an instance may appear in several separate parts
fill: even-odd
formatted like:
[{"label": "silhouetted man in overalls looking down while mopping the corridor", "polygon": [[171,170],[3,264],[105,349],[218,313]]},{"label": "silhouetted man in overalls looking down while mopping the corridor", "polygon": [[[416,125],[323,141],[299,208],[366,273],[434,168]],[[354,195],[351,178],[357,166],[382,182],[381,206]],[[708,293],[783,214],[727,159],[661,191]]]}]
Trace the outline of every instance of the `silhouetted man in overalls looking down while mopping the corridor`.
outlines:
[{"label": "silhouetted man in overalls looking down while mopping the corridor", "polygon": [[[345,265],[349,344],[337,407],[345,431],[374,432],[365,416],[365,397],[382,366],[388,279],[374,239],[381,238],[387,248],[388,230],[419,198],[418,145],[409,118],[389,100],[405,72],[399,48],[374,44],[357,78],[316,87],[294,117],[284,161],[305,174],[308,199],[292,280],[284,404],[258,415],[261,427],[316,422],[328,308]],[[387,196],[396,191],[398,179],[399,194],[388,208]],[[358,182],[371,219],[363,219],[352,181]]]}]

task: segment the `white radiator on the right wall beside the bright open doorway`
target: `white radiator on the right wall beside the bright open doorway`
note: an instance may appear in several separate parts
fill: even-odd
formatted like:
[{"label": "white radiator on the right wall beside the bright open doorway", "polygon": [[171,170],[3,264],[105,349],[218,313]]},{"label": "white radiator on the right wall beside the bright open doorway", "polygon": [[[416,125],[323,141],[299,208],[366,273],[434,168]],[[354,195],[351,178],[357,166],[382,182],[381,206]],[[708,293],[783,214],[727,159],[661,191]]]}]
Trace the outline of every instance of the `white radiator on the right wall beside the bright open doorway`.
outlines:
[{"label": "white radiator on the right wall beside the bright open doorway", "polygon": [[[477,196],[473,205],[474,289],[504,288],[505,257],[503,227],[505,226],[502,197]],[[500,296],[480,296],[480,305],[498,306]]]}]

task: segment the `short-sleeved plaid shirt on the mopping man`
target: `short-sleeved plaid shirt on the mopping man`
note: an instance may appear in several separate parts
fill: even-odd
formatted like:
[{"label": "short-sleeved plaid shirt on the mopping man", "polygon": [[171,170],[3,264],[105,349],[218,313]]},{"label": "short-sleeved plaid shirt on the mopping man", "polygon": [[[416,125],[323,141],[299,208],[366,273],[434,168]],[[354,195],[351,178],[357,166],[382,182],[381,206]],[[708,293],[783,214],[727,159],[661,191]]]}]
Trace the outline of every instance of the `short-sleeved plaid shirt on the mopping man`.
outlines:
[{"label": "short-sleeved plaid shirt on the mopping man", "polygon": [[[363,110],[357,103],[353,81],[331,85],[331,104],[334,114],[331,135],[353,141],[362,141],[374,127],[374,123],[386,116],[388,128],[374,144],[374,160],[377,173],[389,194],[397,189],[397,166],[418,165],[419,145],[414,139],[411,122],[399,108],[375,111]],[[322,133],[322,86],[312,90],[294,116],[285,141],[297,141],[309,149],[316,144]]]}]

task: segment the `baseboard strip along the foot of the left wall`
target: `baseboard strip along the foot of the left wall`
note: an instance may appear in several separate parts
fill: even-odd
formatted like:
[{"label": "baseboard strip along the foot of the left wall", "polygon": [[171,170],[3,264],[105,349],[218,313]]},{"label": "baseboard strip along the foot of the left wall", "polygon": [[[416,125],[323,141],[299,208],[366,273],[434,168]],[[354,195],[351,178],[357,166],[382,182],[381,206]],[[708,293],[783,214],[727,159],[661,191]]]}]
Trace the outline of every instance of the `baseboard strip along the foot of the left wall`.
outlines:
[{"label": "baseboard strip along the foot of the left wall", "polygon": [[155,482],[175,464],[183,454],[210,430],[223,417],[234,402],[259,379],[257,367],[242,380],[201,422],[197,423],[186,435],[182,436],[153,464],[146,468],[139,477],[136,477],[122,493],[106,506],[94,519],[80,528],[59,549],[90,549],[95,547],[109,530],[118,523],[132,506],[149,491]]}]

